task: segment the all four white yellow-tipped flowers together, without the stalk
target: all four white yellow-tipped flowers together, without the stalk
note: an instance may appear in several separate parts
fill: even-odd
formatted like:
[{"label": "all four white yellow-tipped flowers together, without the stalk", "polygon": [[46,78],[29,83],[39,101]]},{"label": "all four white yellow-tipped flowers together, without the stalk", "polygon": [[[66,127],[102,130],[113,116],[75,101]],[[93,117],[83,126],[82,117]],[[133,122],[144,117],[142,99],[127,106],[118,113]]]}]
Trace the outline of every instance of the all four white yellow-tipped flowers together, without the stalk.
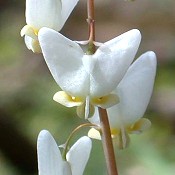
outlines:
[{"label": "all four white yellow-tipped flowers together, without the stalk", "polygon": [[[141,41],[137,29],[98,43],[94,53],[84,51],[78,42],[59,33],[77,3],[26,0],[27,25],[21,36],[29,50],[43,54],[62,89],[53,99],[66,107],[77,107],[77,115],[95,126],[88,136],[96,139],[101,139],[97,108],[106,109],[111,137],[119,148],[126,148],[129,134],[141,133],[151,125],[142,117],[153,90],[156,55],[148,51],[132,63]],[[37,144],[39,175],[82,175],[91,151],[89,137],[80,138],[62,157],[51,134],[41,131]]]}]

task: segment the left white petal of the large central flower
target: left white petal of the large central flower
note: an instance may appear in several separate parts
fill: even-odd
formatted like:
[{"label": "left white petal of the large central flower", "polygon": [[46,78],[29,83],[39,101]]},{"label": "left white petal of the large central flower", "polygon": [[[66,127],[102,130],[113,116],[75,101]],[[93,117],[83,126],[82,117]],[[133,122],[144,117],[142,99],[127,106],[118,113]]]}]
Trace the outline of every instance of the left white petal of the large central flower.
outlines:
[{"label": "left white petal of the large central flower", "polygon": [[39,42],[46,63],[58,85],[71,96],[89,94],[89,75],[80,46],[54,30],[42,28]]}]

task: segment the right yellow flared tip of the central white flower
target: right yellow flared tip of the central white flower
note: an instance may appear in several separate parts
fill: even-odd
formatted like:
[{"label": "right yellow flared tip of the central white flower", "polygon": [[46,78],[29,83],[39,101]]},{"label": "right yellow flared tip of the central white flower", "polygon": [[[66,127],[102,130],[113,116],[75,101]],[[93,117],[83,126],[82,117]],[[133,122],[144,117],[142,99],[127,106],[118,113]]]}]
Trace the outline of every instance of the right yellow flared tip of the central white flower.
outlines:
[{"label": "right yellow flared tip of the central white flower", "polygon": [[119,103],[119,97],[116,94],[109,94],[103,97],[92,98],[91,103],[95,106],[99,106],[101,108],[110,108],[117,103]]}]

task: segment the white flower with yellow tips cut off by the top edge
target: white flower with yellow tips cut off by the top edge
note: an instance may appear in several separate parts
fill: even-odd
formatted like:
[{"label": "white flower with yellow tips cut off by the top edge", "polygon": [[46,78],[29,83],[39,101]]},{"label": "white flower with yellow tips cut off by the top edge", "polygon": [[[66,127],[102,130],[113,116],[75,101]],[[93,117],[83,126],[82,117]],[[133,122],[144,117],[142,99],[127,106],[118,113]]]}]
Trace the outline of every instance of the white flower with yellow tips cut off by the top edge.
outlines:
[{"label": "white flower with yellow tips cut off by the top edge", "polygon": [[42,27],[60,31],[78,0],[26,0],[26,23],[21,36],[29,50],[41,52],[38,32]]}]

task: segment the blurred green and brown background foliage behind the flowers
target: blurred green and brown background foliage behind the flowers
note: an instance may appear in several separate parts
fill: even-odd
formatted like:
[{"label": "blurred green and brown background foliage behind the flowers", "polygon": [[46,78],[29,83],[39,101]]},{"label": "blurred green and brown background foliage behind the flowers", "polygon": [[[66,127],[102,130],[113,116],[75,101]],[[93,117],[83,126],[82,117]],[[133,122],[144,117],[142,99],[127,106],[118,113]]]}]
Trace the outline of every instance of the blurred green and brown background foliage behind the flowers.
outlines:
[{"label": "blurred green and brown background foliage behind the flowers", "polygon": [[[154,50],[158,55],[155,90],[146,117],[152,128],[133,135],[128,149],[116,149],[120,175],[173,175],[175,172],[175,2],[174,0],[96,0],[96,35],[105,41],[131,28],[139,28],[143,40],[138,55]],[[17,131],[36,146],[37,135],[48,129],[58,144],[83,120],[75,109],[52,100],[59,87],[51,77],[42,55],[28,51],[20,37],[25,25],[25,1],[0,1],[0,116],[8,116]],[[112,9],[112,10],[111,10]],[[87,39],[85,1],[78,4],[64,29],[66,36]],[[78,32],[77,32],[78,31]],[[2,125],[0,120],[0,125]],[[9,128],[10,130],[10,128]],[[86,134],[87,129],[75,137]],[[2,133],[6,134],[6,133]],[[0,144],[3,144],[0,140]],[[73,143],[73,142],[72,142]],[[13,143],[9,144],[12,149]],[[25,152],[24,152],[25,155]],[[27,158],[26,158],[27,159]],[[36,155],[33,155],[36,160]],[[0,174],[27,174],[16,168],[0,149]],[[37,172],[36,172],[37,174]],[[93,141],[85,172],[106,174],[103,150]]]}]

